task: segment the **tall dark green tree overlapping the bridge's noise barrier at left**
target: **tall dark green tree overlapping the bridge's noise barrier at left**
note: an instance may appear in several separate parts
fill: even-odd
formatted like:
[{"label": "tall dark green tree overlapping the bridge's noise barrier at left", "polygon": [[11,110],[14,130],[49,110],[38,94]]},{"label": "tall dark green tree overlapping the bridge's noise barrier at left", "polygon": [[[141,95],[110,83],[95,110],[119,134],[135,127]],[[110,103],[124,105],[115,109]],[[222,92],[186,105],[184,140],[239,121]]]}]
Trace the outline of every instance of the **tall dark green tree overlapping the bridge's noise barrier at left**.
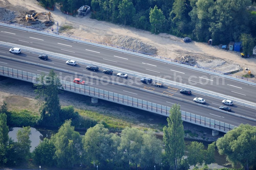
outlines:
[{"label": "tall dark green tree overlapping the bridge's noise barrier at left", "polygon": [[40,84],[34,85],[37,88],[35,93],[38,94],[36,99],[42,99],[45,102],[40,107],[39,124],[59,126],[62,122],[59,115],[61,109],[58,93],[60,93],[60,88],[63,89],[60,79],[54,70],[50,70],[48,75],[42,72],[38,81]]}]

